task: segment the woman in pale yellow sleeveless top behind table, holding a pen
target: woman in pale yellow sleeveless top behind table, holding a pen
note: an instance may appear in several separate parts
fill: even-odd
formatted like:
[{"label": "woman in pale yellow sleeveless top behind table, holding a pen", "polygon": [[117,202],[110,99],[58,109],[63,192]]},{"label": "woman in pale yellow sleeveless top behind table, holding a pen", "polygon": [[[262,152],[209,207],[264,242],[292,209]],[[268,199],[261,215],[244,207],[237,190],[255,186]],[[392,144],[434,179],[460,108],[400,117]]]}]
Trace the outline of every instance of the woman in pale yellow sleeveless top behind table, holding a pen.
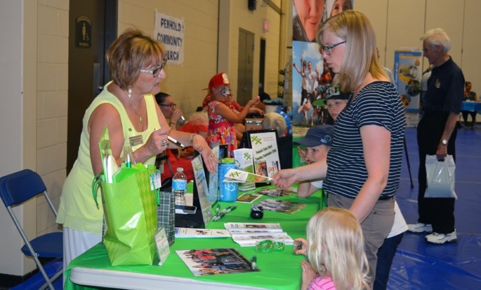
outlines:
[{"label": "woman in pale yellow sleeveless top behind table, holding a pen", "polygon": [[63,224],[63,263],[87,251],[102,238],[103,207],[92,198],[92,180],[103,170],[98,148],[105,126],[109,129],[112,155],[120,166],[123,152],[131,147],[133,161],[154,164],[156,155],[176,148],[167,135],[193,146],[214,172],[217,157],[205,139],[195,133],[169,128],[152,92],[159,91],[165,78],[165,50],[162,43],[140,30],[120,34],[107,51],[111,81],[92,101],[83,117],[78,157],[63,185],[57,223]]}]

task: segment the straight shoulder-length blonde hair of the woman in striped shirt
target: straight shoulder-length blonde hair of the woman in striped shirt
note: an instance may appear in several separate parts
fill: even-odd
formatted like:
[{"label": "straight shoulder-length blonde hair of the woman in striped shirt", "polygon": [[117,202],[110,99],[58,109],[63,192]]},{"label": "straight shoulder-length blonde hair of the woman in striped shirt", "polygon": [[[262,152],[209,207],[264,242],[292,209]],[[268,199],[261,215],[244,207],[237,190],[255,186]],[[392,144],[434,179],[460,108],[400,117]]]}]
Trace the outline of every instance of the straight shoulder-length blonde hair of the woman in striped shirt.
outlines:
[{"label": "straight shoulder-length blonde hair of the woman in striped shirt", "polygon": [[339,74],[332,86],[350,92],[361,86],[367,73],[374,78],[388,78],[376,54],[376,34],[367,17],[359,11],[348,10],[325,21],[317,34],[323,45],[323,33],[329,31],[346,41],[345,54]]}]

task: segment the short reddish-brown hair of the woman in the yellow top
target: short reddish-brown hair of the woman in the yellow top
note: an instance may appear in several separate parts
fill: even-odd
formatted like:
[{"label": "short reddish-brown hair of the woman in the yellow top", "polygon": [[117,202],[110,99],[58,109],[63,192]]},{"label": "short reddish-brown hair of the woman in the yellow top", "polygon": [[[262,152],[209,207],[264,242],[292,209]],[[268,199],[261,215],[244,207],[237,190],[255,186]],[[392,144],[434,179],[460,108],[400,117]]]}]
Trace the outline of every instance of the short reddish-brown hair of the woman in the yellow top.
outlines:
[{"label": "short reddish-brown hair of the woman in the yellow top", "polygon": [[129,28],[110,45],[105,56],[111,79],[120,89],[127,89],[137,80],[140,69],[160,65],[164,54],[164,45],[160,41]]}]

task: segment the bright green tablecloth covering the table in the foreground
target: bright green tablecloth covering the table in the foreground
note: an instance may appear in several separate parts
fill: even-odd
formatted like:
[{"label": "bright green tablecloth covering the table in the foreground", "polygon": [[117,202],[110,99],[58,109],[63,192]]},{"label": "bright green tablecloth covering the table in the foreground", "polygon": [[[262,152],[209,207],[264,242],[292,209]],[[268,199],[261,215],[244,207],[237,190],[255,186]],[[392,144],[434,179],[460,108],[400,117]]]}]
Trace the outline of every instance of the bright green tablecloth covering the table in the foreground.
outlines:
[{"label": "bright green tablecloth covering the table in the foreground", "polygon": [[[242,192],[239,192],[239,195]],[[272,198],[262,197],[261,199]],[[280,223],[281,227],[292,238],[305,237],[306,225],[312,214],[319,210],[321,201],[320,192],[316,192],[308,199],[298,198],[295,194],[288,197],[277,197],[275,199],[287,199],[300,203],[307,203],[306,208],[295,214],[284,214],[279,212],[264,211],[264,219],[251,219],[250,207],[252,203],[235,203],[237,210],[226,214],[220,221],[211,221],[208,228],[223,229],[226,222],[257,222],[257,223]],[[259,200],[257,200],[259,201]],[[257,202],[256,201],[256,202]],[[222,208],[233,203],[221,203]],[[186,267],[175,250],[178,249],[209,249],[217,247],[231,247],[238,249],[244,256],[250,258],[257,256],[258,272],[242,274],[222,274],[213,276],[193,276]],[[193,280],[203,280],[209,282],[220,282],[233,285],[248,285],[253,287],[265,287],[268,289],[299,289],[301,281],[301,267],[299,263],[303,256],[296,256],[292,253],[292,245],[286,246],[284,252],[256,253],[255,247],[240,247],[232,238],[175,238],[175,243],[171,247],[171,254],[162,267],[157,265],[141,266],[111,266],[105,247],[99,243],[87,252],[78,256],[70,263],[65,271],[65,289],[92,289],[75,285],[69,279],[70,269],[74,267],[85,267],[91,269],[109,269],[115,271],[136,272],[141,274],[151,274],[160,276],[183,277]],[[138,285],[136,285],[138,287]]]}]

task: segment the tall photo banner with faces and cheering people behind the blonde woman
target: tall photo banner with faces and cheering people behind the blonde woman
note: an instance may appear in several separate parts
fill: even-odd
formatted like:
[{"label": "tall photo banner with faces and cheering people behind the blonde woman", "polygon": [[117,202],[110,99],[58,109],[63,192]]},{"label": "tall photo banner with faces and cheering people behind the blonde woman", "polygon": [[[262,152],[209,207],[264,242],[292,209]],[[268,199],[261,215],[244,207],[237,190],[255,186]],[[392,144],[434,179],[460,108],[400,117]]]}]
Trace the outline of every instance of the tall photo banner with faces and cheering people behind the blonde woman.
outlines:
[{"label": "tall photo banner with faces and cheering people behind the blonde woman", "polygon": [[292,1],[292,126],[329,121],[325,105],[315,101],[325,98],[334,73],[323,60],[315,36],[321,23],[353,7],[354,0]]}]

